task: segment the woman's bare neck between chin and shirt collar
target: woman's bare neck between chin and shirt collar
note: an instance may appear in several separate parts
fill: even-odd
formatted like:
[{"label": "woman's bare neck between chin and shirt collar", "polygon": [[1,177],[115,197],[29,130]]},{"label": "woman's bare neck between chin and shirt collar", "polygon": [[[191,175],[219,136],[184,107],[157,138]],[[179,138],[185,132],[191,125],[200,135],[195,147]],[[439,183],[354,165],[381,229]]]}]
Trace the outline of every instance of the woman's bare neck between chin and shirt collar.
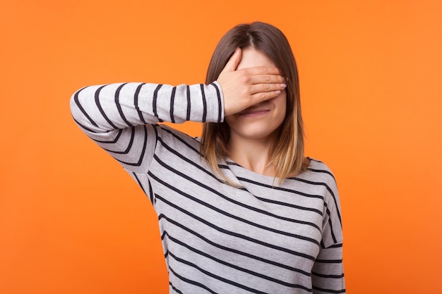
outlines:
[{"label": "woman's bare neck between chin and shirt collar", "polygon": [[264,176],[275,176],[275,168],[268,164],[271,140],[253,140],[234,135],[229,140],[229,157],[240,166]]}]

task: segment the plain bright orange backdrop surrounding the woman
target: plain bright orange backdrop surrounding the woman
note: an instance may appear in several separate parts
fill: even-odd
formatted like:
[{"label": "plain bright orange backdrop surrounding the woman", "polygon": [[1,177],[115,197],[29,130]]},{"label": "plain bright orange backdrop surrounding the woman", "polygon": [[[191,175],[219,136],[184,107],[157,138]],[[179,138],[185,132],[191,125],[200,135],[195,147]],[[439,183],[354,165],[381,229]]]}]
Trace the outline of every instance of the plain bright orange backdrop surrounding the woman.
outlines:
[{"label": "plain bright orange backdrop surrounding the woman", "polygon": [[307,155],[340,188],[348,293],[442,293],[440,1],[2,0],[0,12],[0,293],[167,293],[148,198],[68,100],[107,82],[203,82],[220,37],[253,20],[297,58]]}]

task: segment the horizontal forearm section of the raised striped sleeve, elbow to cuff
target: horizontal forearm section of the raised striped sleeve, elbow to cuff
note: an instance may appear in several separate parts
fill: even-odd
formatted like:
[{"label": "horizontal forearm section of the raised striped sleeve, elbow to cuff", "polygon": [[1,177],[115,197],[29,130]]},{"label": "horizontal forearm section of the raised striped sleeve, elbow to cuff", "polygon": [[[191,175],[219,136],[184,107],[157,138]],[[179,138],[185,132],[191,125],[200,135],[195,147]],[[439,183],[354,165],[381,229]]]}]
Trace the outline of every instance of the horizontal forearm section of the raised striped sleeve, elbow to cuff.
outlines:
[{"label": "horizontal forearm section of the raised striped sleeve, elbow to cuff", "polygon": [[71,111],[76,123],[93,136],[161,121],[220,122],[222,91],[217,82],[177,87],[136,82],[97,85],[73,94]]}]

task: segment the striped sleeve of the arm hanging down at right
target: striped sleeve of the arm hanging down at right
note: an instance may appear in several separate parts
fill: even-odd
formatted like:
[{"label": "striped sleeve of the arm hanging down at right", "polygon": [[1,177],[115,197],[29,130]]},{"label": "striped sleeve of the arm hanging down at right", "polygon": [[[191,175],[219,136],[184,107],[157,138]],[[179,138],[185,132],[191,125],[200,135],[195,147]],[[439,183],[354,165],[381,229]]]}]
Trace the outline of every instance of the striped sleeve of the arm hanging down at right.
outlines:
[{"label": "striped sleeve of the arm hanging down at right", "polygon": [[335,178],[330,182],[325,184],[328,192],[324,199],[321,249],[311,271],[314,294],[345,293],[340,200]]}]

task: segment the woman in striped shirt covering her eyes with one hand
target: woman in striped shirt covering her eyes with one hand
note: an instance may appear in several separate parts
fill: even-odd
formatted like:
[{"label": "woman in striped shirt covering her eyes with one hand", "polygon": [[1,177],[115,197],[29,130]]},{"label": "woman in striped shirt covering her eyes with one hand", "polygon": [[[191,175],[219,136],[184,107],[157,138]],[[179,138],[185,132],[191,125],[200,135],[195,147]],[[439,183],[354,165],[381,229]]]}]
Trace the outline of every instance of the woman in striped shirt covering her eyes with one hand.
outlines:
[{"label": "woman in striped shirt covering her eyes with one hand", "polygon": [[[207,85],[126,83],[71,98],[80,128],[150,197],[170,293],[345,293],[335,178],[304,158],[285,36],[237,25]],[[162,121],[202,121],[201,140]]]}]

